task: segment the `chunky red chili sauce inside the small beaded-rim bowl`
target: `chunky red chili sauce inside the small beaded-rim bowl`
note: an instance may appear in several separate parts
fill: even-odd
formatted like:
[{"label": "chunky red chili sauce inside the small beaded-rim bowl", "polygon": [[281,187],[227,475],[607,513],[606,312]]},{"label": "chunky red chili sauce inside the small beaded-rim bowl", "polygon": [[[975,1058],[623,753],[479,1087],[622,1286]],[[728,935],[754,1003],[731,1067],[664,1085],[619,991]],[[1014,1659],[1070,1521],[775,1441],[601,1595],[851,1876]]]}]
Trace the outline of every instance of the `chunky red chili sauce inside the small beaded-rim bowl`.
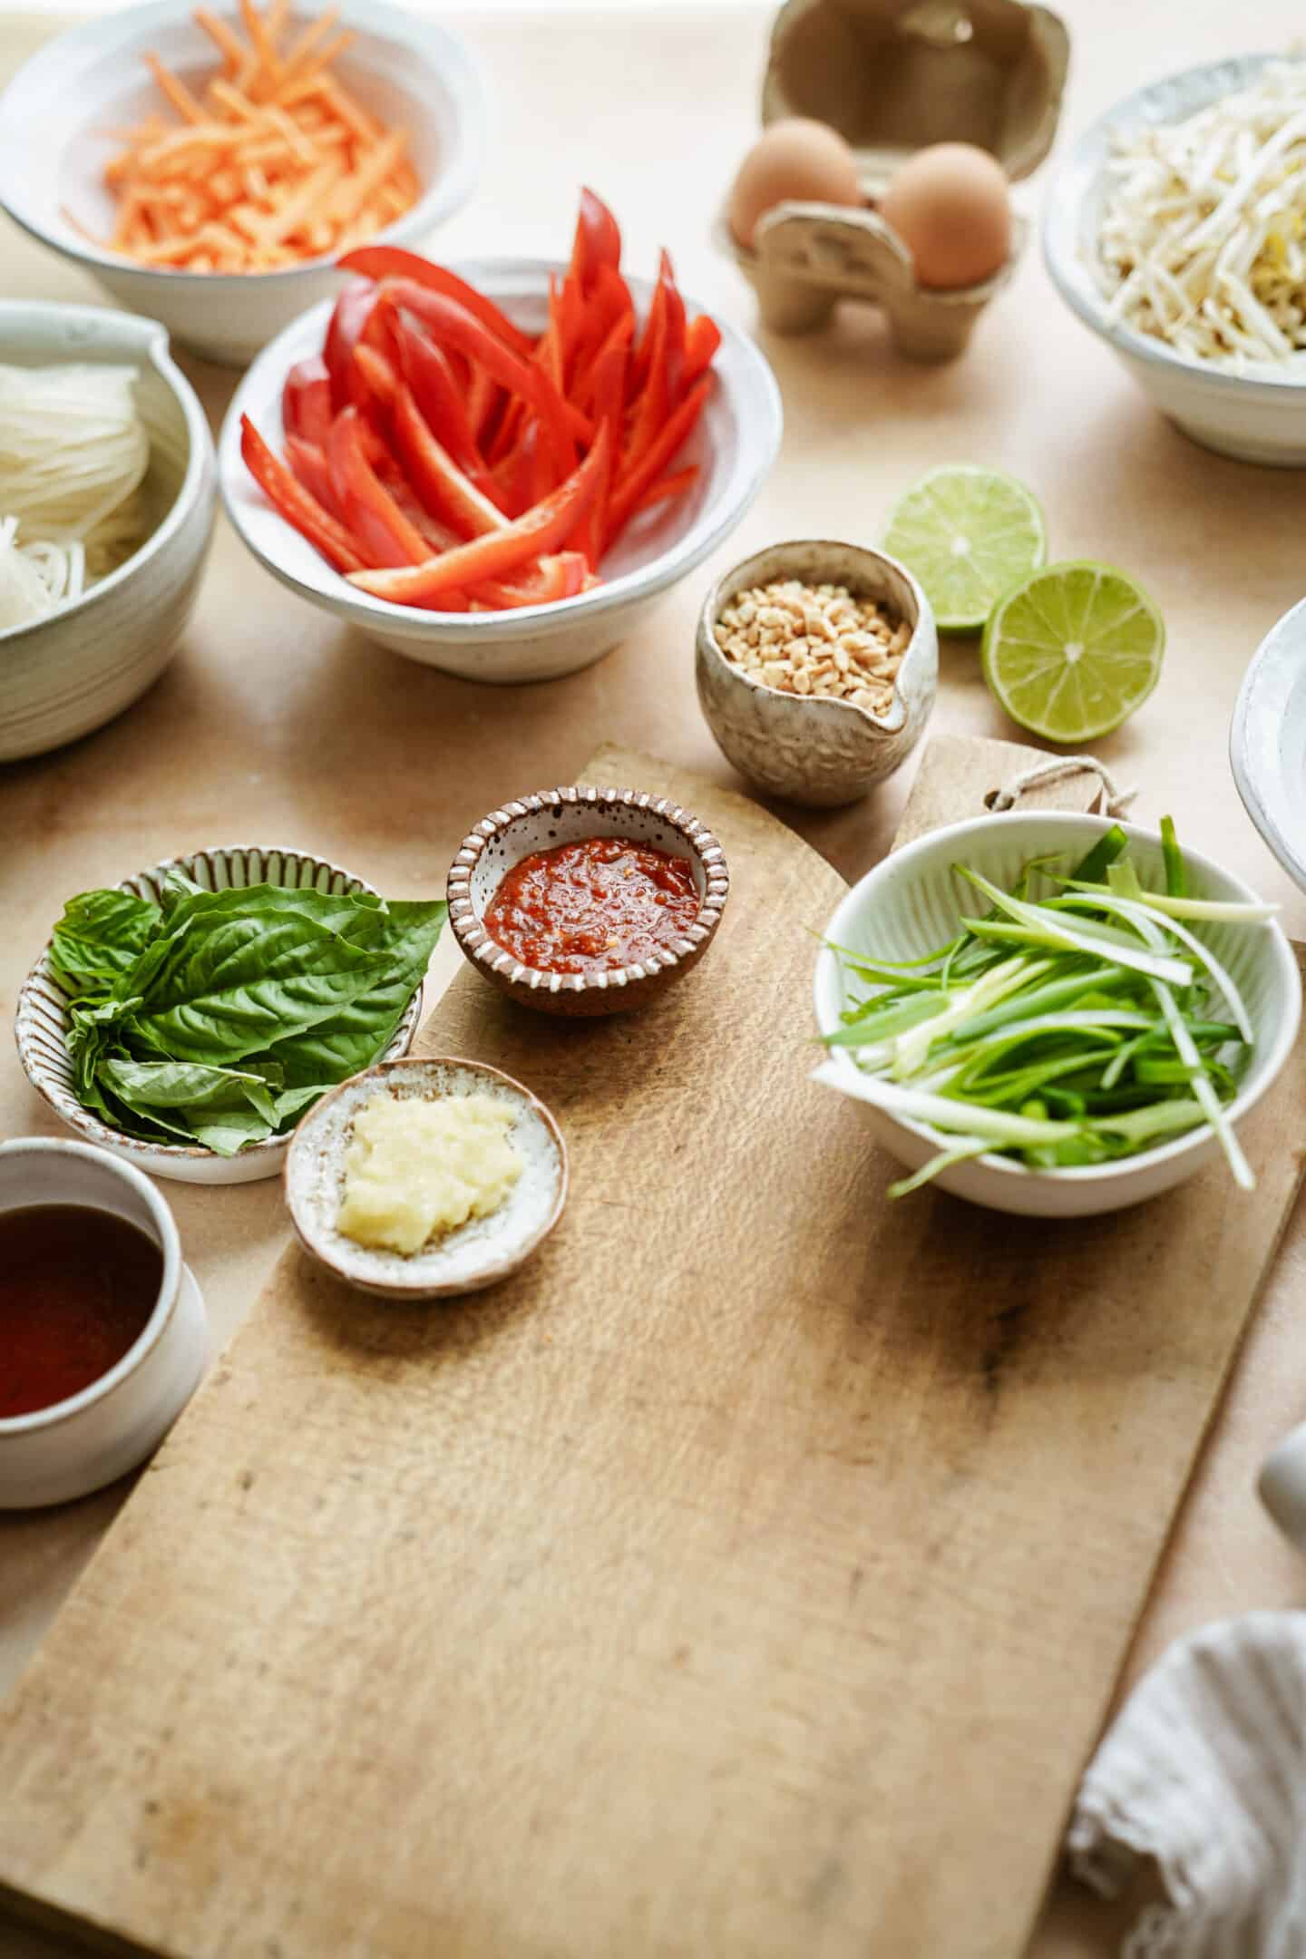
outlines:
[{"label": "chunky red chili sauce inside the small beaded-rim bowl", "polygon": [[486,931],[535,972],[607,974],[664,952],[697,915],[689,858],[629,836],[585,836],[515,864],[486,909]]}]

